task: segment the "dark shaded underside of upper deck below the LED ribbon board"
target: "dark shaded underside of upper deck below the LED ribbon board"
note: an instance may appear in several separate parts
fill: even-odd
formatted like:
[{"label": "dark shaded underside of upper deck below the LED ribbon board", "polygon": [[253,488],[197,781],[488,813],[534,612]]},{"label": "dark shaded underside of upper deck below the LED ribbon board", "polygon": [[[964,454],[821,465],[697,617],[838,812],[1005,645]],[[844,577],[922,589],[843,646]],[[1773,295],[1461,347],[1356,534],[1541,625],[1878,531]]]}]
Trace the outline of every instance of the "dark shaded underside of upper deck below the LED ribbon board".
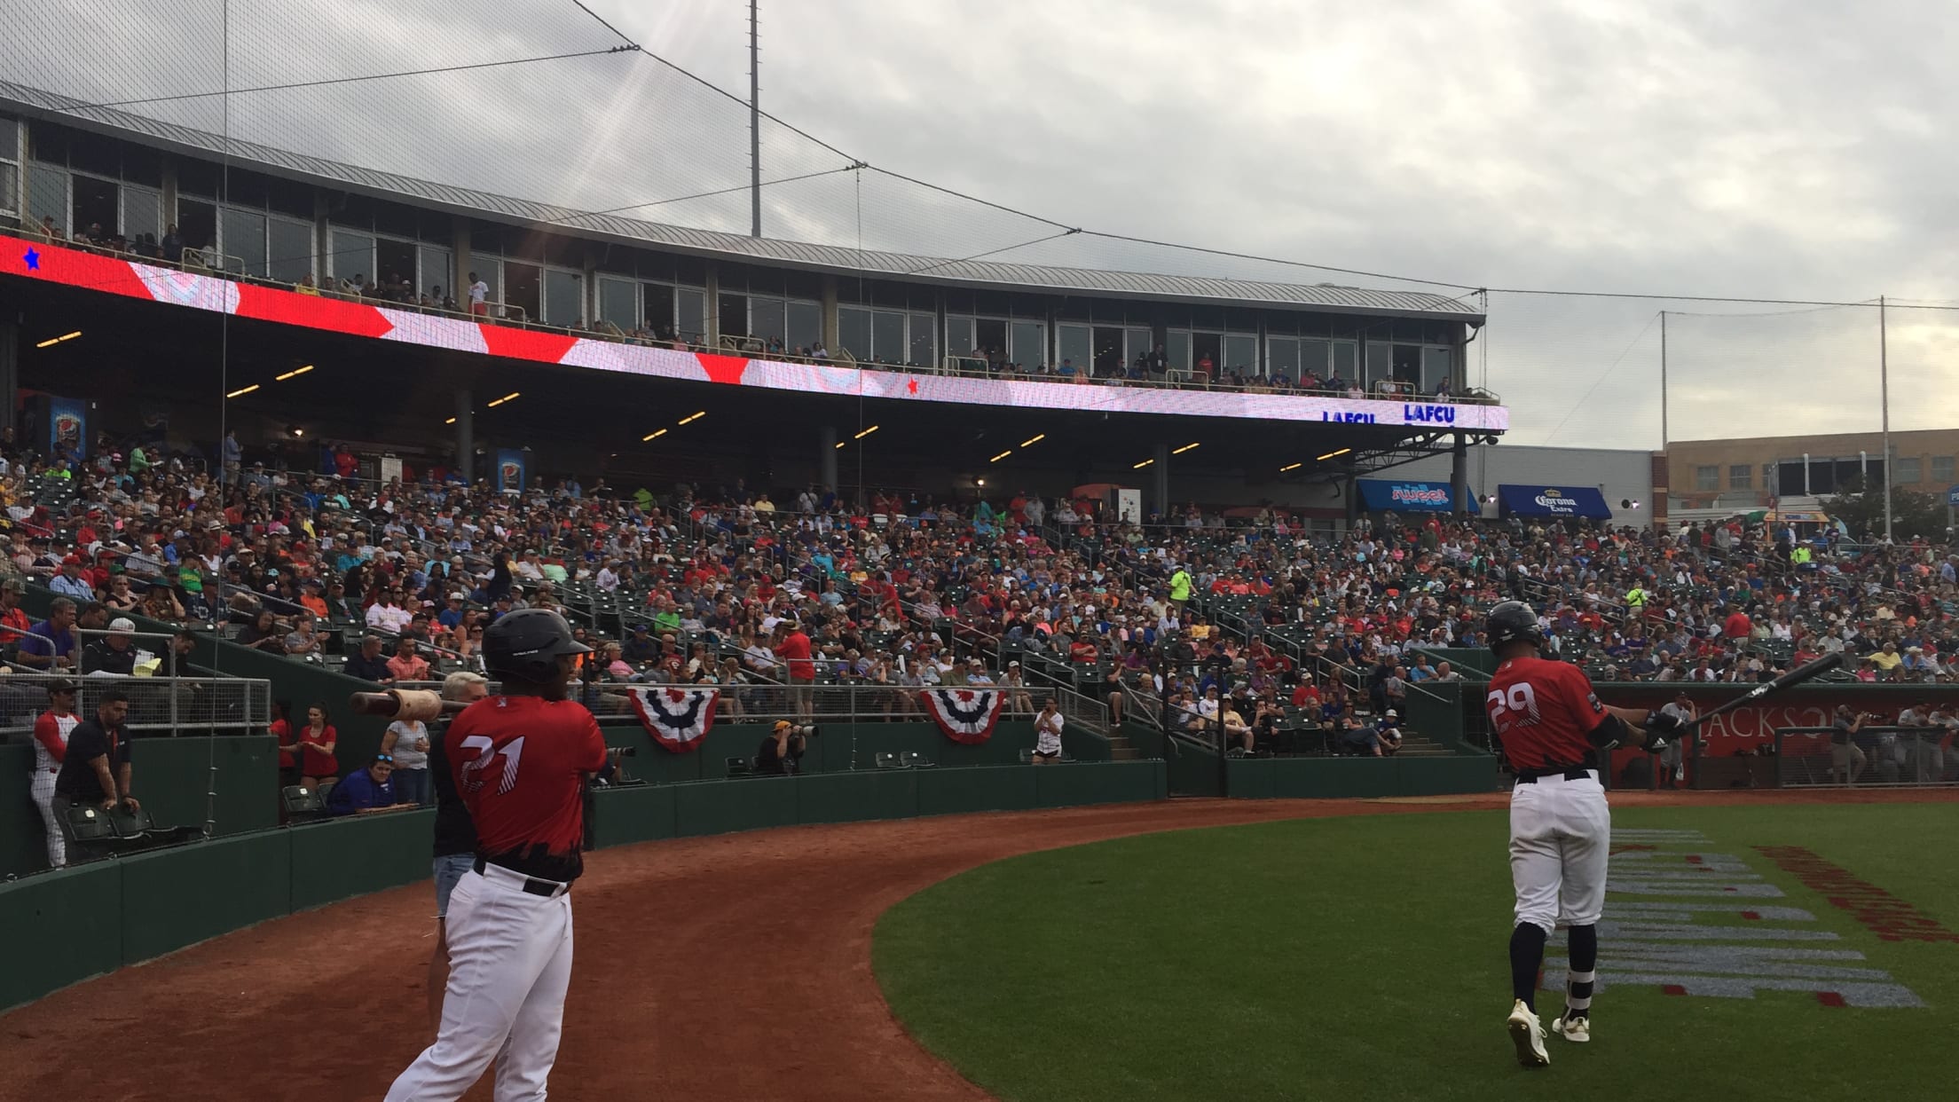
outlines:
[{"label": "dark shaded underside of upper deck below the LED ribbon board", "polygon": [[[6,259],[0,255],[0,265]],[[247,426],[243,439],[296,426],[306,439],[355,439],[376,451],[394,447],[406,457],[431,457],[456,439],[451,418],[458,414],[458,394],[466,394],[478,449],[582,449],[609,459],[615,471],[676,478],[756,457],[795,469],[840,443],[835,451],[844,471],[870,463],[872,478],[884,471],[899,486],[929,484],[903,480],[925,469],[1009,482],[1062,476],[1070,484],[1148,484],[1162,455],[1179,480],[1215,475],[1254,486],[1269,482],[1277,496],[1285,482],[1342,476],[1446,449],[1454,433],[1448,426],[1246,420],[1205,412],[1201,404],[1171,414],[1121,414],[923,402],[899,396],[903,388],[866,396],[739,386],[705,373],[676,378],[594,371],[186,310],[24,276],[0,276],[0,304],[31,320],[22,333],[22,386],[102,398],[123,420],[137,410],[174,410],[172,424],[184,439],[215,439],[223,410],[227,424]],[[69,331],[80,337],[35,347]],[[311,371],[294,375],[302,367]],[[225,398],[227,392],[239,396]],[[517,398],[498,402],[507,394]],[[1467,431],[1471,441],[1495,435]]]}]

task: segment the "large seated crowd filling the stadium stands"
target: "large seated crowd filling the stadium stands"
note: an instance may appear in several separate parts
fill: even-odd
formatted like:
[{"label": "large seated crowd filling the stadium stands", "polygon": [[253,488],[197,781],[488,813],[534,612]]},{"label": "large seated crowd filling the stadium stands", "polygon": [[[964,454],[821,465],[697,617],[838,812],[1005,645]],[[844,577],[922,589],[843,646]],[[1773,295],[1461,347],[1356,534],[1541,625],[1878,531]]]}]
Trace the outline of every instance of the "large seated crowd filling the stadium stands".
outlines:
[{"label": "large seated crowd filling the stadium stands", "polygon": [[[10,661],[116,669],[114,635],[71,629],[139,614],[425,682],[480,671],[484,626],[543,606],[597,649],[592,700],[711,682],[739,716],[750,686],[836,686],[899,716],[927,686],[997,684],[1030,714],[1072,688],[1111,722],[1222,729],[1250,753],[1367,755],[1399,747],[1422,682],[1461,676],[1432,651],[1479,647],[1481,614],[1512,596],[1595,680],[1747,682],[1834,651],[1861,680],[1959,678],[1959,559],[1922,541],[1420,514],[1328,537],[1273,508],[1103,524],[1093,502],[1023,492],[809,486],[778,506],[741,480],[503,494],[441,469],[364,482],[347,449],[313,469],[245,465],[235,441],[212,459],[110,439],[86,463],[0,449],[0,569],[69,602],[16,626]],[[6,602],[18,592],[0,592],[0,629],[18,620]]]}]

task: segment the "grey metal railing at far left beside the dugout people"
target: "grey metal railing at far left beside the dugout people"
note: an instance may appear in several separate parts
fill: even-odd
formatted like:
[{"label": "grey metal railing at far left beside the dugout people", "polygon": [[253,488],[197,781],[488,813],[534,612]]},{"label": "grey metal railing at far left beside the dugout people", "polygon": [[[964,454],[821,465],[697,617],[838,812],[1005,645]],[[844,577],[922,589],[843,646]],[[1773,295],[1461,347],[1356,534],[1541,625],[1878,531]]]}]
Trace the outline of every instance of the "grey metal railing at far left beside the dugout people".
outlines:
[{"label": "grey metal railing at far left beside the dugout people", "polygon": [[129,696],[125,727],[147,735],[243,735],[272,724],[272,682],[243,676],[114,676],[8,675],[0,678],[0,739],[33,737],[33,720],[47,712],[47,682],[71,680],[74,714],[92,718],[108,690]]}]

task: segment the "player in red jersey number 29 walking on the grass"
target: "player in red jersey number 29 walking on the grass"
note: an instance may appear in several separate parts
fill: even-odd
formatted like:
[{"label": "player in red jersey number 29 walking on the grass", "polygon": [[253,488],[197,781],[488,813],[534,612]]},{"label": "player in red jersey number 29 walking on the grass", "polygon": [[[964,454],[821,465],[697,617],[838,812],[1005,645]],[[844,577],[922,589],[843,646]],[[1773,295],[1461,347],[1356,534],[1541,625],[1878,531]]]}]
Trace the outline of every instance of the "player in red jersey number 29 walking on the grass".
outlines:
[{"label": "player in red jersey number 29 walking on the grass", "polygon": [[1679,720],[1646,708],[1601,704],[1591,678],[1571,663],[1538,657],[1538,612],[1520,600],[1489,610],[1487,643],[1497,653],[1489,678],[1489,722],[1516,771],[1510,792],[1510,880],[1516,929],[1510,933],[1508,1031],[1524,1067],[1552,1063],[1538,1024],[1538,969],[1544,941],[1563,926],[1571,939],[1565,1012],[1552,1026],[1567,1041],[1591,1039],[1591,996],[1599,967],[1599,914],[1612,843],[1612,814],[1599,761],[1616,745],[1665,749]]}]

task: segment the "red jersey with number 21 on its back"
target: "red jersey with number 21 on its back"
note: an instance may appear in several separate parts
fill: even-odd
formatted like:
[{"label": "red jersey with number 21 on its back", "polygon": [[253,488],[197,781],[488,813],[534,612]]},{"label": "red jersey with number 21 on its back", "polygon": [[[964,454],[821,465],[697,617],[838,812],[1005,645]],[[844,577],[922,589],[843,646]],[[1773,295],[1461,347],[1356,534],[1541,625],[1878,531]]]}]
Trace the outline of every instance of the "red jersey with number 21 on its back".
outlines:
[{"label": "red jersey with number 21 on its back", "polygon": [[576,700],[486,696],[443,737],[456,794],[476,824],[476,855],[547,880],[584,871],[586,773],[605,769],[605,737]]}]

